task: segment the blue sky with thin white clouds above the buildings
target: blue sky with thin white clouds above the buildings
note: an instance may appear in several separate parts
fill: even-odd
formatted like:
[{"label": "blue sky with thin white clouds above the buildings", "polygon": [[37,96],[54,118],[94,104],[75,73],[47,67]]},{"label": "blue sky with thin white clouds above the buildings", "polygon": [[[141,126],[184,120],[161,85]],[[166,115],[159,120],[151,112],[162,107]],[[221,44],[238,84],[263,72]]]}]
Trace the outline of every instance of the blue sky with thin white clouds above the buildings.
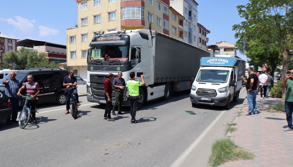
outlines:
[{"label": "blue sky with thin white clouds above the buildings", "polygon": [[[198,22],[211,31],[208,45],[235,43],[232,26],[243,21],[236,6],[248,0],[196,0]],[[66,45],[66,29],[77,24],[75,0],[0,0],[0,32],[16,39]],[[246,60],[244,55],[237,55]]]}]

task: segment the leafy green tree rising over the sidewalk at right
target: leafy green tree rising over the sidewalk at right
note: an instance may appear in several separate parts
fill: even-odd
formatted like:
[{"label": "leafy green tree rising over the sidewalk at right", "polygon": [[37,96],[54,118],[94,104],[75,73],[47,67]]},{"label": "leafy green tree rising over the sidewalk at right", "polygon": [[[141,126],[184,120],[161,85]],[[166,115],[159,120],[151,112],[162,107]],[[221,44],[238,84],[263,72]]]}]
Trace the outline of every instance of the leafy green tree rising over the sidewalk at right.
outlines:
[{"label": "leafy green tree rising over the sidewalk at right", "polygon": [[[239,16],[245,21],[233,26],[238,38],[236,46],[241,53],[251,51],[251,48],[264,47],[272,51],[278,50],[282,56],[283,74],[287,74],[289,50],[292,49],[293,32],[293,1],[292,0],[250,0],[246,5],[237,6]],[[257,42],[257,44],[252,44]],[[265,53],[265,51],[263,51]],[[268,58],[277,56],[270,52]],[[259,56],[250,52],[251,61],[257,61]],[[262,58],[260,58],[262,59]],[[267,59],[267,60],[269,60]],[[271,58],[275,59],[275,58]],[[282,75],[282,80],[285,75]],[[285,99],[285,89],[282,90],[282,101]]]}]

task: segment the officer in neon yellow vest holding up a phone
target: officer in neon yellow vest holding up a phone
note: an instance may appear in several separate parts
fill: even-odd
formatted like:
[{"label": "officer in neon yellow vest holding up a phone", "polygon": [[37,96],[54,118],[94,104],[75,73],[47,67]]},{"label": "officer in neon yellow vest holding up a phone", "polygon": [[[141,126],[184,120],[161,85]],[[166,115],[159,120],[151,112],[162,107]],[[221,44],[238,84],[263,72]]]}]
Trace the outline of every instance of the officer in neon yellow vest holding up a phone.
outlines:
[{"label": "officer in neon yellow vest holding up a phone", "polygon": [[[139,73],[137,73],[139,74]],[[127,81],[127,86],[129,89],[129,99],[130,99],[130,114],[131,114],[131,121],[130,123],[137,123],[135,120],[136,117],[136,110],[138,106],[139,100],[139,86],[144,86],[144,74],[141,74],[142,82],[136,81],[137,75],[132,71],[129,74],[130,80]]]}]

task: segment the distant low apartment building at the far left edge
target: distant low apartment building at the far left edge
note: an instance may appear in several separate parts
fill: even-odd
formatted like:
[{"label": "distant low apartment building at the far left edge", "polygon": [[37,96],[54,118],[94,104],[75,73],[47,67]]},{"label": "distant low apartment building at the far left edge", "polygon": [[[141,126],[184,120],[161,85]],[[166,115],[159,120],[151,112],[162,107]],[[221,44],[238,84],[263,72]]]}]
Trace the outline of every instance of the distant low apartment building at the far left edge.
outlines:
[{"label": "distant low apartment building at the far left edge", "polygon": [[[3,65],[4,62],[2,60],[2,57],[4,53],[7,53],[8,51],[16,51],[17,50],[17,40],[12,38],[10,36],[2,35],[0,32],[0,64]],[[9,66],[13,66],[13,63],[10,63]]]}]

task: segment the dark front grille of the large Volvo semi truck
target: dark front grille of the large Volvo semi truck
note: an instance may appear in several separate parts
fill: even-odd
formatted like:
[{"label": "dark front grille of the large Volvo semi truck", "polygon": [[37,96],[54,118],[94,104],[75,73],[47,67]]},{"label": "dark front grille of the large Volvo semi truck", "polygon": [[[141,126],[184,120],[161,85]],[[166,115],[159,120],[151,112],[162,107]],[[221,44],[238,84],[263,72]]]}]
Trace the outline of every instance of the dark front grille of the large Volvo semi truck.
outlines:
[{"label": "dark front grille of the large Volvo semi truck", "polygon": [[[117,76],[114,76],[116,78]],[[98,100],[105,100],[104,94],[105,94],[105,89],[104,89],[104,81],[106,77],[105,76],[98,76],[95,74],[90,75],[90,82],[91,82],[91,92],[93,94],[94,99]],[[111,84],[113,84],[113,79],[111,81]],[[113,88],[112,91],[112,100],[115,99],[115,88]]]}]

